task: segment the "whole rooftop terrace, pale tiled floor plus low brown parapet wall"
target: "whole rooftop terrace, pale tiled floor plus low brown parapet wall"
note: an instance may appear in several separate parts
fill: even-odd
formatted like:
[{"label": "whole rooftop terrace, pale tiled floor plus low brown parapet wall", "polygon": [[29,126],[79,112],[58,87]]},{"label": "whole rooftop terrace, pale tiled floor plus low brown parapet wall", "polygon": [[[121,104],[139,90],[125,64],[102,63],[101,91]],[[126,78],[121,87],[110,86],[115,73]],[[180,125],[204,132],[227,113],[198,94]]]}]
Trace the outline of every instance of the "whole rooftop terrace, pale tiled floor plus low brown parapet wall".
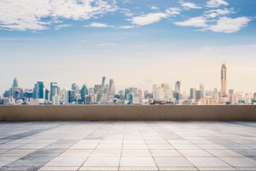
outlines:
[{"label": "whole rooftop terrace, pale tiled floor plus low brown parapet wall", "polygon": [[255,106],[0,109],[0,170],[256,170]]}]

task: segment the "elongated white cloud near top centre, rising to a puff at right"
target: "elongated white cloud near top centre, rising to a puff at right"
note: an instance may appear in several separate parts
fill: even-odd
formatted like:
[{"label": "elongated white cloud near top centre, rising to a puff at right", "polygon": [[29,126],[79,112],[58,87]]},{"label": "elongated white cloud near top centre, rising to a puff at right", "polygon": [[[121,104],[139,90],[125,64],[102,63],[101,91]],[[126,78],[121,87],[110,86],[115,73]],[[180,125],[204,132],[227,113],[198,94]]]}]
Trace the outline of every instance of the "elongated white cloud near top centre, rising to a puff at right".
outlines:
[{"label": "elongated white cloud near top centre, rising to a puff at right", "polygon": [[170,16],[175,16],[178,14],[180,14],[180,9],[169,8],[165,12],[147,13],[145,15],[133,17],[130,20],[132,20],[132,23],[136,25],[148,25],[159,22],[162,18],[168,18]]}]

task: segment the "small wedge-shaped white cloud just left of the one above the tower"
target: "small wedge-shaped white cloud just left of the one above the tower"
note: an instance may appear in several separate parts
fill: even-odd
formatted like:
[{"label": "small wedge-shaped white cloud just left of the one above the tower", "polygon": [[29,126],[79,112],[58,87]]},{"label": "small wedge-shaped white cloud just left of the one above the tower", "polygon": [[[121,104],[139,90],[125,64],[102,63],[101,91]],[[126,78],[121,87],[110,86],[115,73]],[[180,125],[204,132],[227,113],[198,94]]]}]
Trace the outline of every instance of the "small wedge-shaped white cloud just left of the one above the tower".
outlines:
[{"label": "small wedge-shaped white cloud just left of the one above the tower", "polygon": [[208,24],[206,22],[207,20],[204,17],[194,17],[183,22],[174,22],[174,24],[179,26],[207,27]]}]

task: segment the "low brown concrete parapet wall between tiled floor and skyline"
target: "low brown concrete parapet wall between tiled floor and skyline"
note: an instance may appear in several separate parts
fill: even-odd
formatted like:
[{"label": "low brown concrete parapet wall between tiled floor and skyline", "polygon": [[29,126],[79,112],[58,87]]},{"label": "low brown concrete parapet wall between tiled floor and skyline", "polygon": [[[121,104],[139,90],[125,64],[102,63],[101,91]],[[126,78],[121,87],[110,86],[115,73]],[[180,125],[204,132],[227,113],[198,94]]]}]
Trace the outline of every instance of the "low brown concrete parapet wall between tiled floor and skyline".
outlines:
[{"label": "low brown concrete parapet wall between tiled floor and skyline", "polygon": [[0,106],[0,121],[247,120],[256,105],[39,105]]}]

